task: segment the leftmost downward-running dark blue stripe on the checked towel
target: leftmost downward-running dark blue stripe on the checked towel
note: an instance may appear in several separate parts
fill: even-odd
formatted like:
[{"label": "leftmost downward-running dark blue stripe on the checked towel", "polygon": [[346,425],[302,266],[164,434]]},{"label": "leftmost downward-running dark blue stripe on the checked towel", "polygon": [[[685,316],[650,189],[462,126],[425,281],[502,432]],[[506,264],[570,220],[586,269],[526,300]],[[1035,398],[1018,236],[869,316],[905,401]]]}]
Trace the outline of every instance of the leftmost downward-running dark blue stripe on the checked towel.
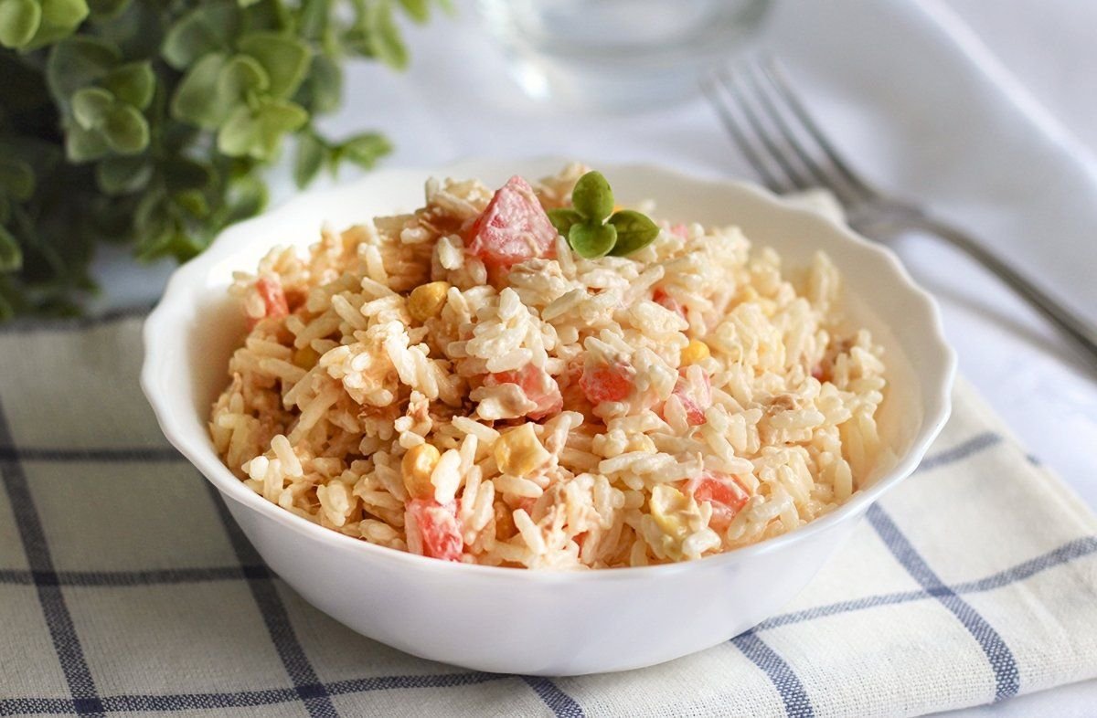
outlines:
[{"label": "leftmost downward-running dark blue stripe on the checked towel", "polygon": [[[8,415],[4,413],[3,403],[0,402],[0,446],[14,445]],[[15,514],[15,526],[23,543],[26,562],[35,579],[38,604],[49,628],[54,651],[57,653],[69,693],[72,695],[73,711],[81,716],[102,716],[103,704],[95,693],[95,681],[91,677],[80,638],[76,632],[76,625],[72,623],[72,615],[57,581],[54,559],[46,542],[46,533],[42,527],[42,518],[31,495],[31,488],[26,482],[26,474],[23,472],[19,460],[0,457],[0,475],[3,477],[4,490]]]}]

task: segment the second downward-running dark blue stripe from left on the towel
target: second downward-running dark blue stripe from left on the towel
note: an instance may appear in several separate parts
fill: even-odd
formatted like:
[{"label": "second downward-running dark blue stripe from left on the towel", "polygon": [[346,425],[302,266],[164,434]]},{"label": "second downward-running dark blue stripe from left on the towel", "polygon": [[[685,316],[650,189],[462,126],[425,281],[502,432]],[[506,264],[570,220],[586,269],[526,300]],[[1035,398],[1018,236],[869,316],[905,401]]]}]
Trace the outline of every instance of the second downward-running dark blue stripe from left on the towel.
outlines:
[{"label": "second downward-running dark blue stripe from left on the towel", "polygon": [[[262,559],[251,544],[248,543],[248,538],[240,531],[240,527],[233,521],[233,516],[228,513],[228,508],[225,506],[225,502],[217,493],[217,490],[214,489],[212,483],[204,483],[210,491],[210,498],[217,511],[217,516],[220,518],[220,523],[228,534],[228,540],[233,545],[233,550],[236,552],[240,565],[261,565]],[[297,695],[308,708],[308,715],[313,718],[338,716],[339,713],[336,710],[335,705],[332,705],[331,697],[316,677],[316,671],[313,670],[313,664],[305,654],[305,649],[301,646],[297,635],[290,624],[290,615],[286,613],[285,605],[278,594],[278,586],[271,581],[249,577],[248,588],[251,589],[251,595],[259,606],[259,613],[263,618],[263,623],[267,624],[267,630],[271,636],[271,640],[274,641],[274,649],[278,651],[279,658],[282,659],[282,664],[285,666],[286,673],[290,674],[290,680],[293,681]]]}]

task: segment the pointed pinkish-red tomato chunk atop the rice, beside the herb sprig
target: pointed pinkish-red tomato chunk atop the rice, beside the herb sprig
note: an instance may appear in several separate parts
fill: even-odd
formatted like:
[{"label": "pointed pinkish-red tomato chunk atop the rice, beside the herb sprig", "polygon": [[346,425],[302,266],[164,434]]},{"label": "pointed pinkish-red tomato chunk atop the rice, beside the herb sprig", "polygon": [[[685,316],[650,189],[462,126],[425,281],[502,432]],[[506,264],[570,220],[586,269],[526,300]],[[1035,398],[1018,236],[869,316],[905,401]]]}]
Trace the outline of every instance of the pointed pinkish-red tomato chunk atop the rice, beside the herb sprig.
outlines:
[{"label": "pointed pinkish-red tomato chunk atop the rice, beside the herb sprig", "polygon": [[534,257],[552,258],[556,228],[533,187],[514,175],[491,197],[468,232],[468,251],[489,266],[510,267]]}]

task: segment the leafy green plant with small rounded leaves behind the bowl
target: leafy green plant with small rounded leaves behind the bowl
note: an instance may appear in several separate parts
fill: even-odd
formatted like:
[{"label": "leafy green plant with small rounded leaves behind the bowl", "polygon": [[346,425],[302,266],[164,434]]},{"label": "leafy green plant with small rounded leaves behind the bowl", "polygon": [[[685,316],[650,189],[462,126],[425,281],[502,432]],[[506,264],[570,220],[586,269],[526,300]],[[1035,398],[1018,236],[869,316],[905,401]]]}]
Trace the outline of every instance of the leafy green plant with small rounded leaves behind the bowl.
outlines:
[{"label": "leafy green plant with small rounded leaves behind the bowl", "polygon": [[186,259],[256,214],[297,137],[307,184],[389,151],[314,126],[341,62],[407,65],[429,0],[0,0],[0,319],[71,314],[99,242]]}]

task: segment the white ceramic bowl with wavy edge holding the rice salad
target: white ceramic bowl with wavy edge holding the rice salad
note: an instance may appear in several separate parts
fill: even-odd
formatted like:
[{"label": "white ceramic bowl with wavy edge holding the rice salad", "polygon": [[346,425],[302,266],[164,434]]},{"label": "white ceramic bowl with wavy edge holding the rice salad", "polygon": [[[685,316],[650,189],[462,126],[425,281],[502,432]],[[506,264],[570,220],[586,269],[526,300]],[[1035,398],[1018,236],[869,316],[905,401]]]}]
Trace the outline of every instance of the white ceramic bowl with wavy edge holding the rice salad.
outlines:
[{"label": "white ceramic bowl with wavy edge holding the rice salad", "polygon": [[868,506],[909,475],[949,414],[954,372],[940,318],[896,258],[848,229],[739,183],[648,166],[599,166],[625,203],[655,198],[659,217],[737,224],[787,266],[825,250],[847,283],[847,311],[886,352],[879,415],[898,463],[832,514],[795,532],[699,561],[544,572],[439,561],[355,540],[294,516],[246,488],[214,453],[206,419],[244,334],[226,295],[273,244],[304,248],[321,224],[342,228],[422,202],[429,175],[551,174],[564,161],[466,161],[386,170],[303,194],[226,230],[172,276],[145,324],[142,385],[169,441],[210,479],[270,567],[315,606],[398,649],[496,672],[575,675],[667,661],[714,646],[777,612],[838,549]]}]

